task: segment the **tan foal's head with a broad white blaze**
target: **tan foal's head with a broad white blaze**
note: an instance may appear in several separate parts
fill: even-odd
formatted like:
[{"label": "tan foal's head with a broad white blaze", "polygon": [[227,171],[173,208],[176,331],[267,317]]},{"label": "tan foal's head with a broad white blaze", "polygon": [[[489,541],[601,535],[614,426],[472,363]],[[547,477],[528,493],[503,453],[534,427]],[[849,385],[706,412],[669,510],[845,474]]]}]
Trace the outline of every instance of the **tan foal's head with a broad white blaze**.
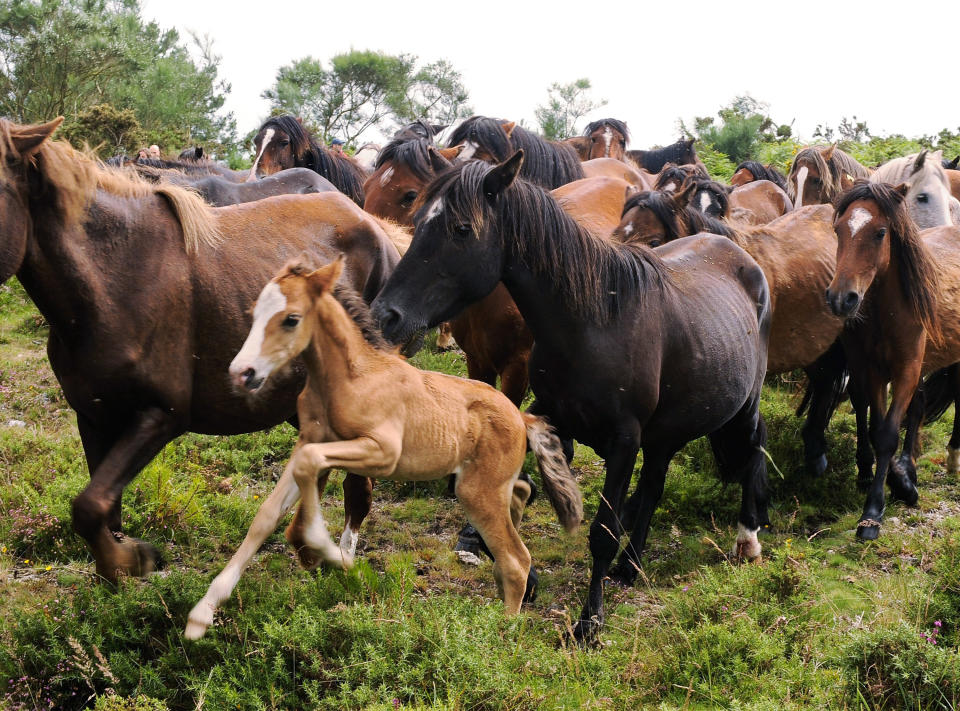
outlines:
[{"label": "tan foal's head with a broad white blaze", "polygon": [[253,306],[253,325],[230,363],[235,387],[257,392],[271,374],[310,344],[318,301],[332,292],[343,271],[343,255],[311,271],[291,262],[263,287]]}]

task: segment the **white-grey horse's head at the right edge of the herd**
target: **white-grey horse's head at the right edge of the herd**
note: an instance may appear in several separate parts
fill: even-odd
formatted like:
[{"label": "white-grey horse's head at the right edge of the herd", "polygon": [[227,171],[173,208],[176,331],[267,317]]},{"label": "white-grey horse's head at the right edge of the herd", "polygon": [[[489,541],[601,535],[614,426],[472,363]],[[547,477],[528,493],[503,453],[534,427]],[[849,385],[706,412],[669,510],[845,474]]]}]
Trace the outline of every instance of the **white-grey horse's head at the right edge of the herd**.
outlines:
[{"label": "white-grey horse's head at the right edge of the herd", "polygon": [[960,224],[960,202],[950,193],[950,180],[942,165],[942,151],[920,151],[894,158],[877,168],[870,181],[906,184],[907,212],[920,229]]}]

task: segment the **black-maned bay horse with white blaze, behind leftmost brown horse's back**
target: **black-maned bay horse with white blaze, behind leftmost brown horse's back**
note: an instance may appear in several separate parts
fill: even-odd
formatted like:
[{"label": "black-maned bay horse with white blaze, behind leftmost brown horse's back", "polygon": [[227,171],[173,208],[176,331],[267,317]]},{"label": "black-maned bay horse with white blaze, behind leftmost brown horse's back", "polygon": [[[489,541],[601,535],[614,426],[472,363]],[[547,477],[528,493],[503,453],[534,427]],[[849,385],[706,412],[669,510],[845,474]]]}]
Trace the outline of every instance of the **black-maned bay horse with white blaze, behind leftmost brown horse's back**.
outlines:
[{"label": "black-maned bay horse with white blaze, behind leftmost brown horse's back", "polygon": [[290,116],[267,119],[253,140],[256,158],[248,180],[262,178],[286,168],[310,168],[329,180],[357,205],[363,205],[366,174],[349,156],[327,150]]}]

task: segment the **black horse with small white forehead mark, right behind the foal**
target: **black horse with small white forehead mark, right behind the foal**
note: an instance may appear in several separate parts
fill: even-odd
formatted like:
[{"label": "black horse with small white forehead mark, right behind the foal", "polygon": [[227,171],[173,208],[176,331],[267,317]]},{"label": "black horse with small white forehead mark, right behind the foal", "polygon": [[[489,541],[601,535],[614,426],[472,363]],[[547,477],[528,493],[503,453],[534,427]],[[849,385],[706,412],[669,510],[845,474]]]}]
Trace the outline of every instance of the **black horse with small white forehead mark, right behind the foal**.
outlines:
[{"label": "black horse with small white forehead mark, right behind the foal", "polygon": [[[660,254],[597,239],[549,193],[518,179],[522,161],[518,151],[439,175],[372,311],[398,342],[501,281],[509,290],[535,339],[532,409],[606,461],[589,592],[574,629],[588,641],[604,620],[607,573],[635,579],[667,466],[688,441],[709,434],[723,475],[742,483],[736,551],[760,554],[769,294],[756,262],[727,239],[679,240]],[[639,484],[624,506],[641,448]],[[630,541],[611,571],[626,530]]]}]

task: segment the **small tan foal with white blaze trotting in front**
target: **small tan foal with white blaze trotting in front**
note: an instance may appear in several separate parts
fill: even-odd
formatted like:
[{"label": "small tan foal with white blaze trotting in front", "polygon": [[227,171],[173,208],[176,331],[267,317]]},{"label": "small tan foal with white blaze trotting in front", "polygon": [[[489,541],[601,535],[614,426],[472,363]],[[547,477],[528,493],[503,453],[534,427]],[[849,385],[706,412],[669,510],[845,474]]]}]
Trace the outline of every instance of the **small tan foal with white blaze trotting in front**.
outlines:
[{"label": "small tan foal with white blaze trotting in front", "polygon": [[[351,317],[333,291],[343,259],[312,269],[288,264],[260,293],[253,325],[230,364],[237,388],[256,394],[278,370],[302,357],[307,384],[297,401],[300,437],[277,485],[251,527],[262,544],[297,497],[287,539],[301,564],[349,568],[352,556],[330,538],[320,497],[331,469],[378,479],[429,481],[453,473],[467,519],[493,558],[493,575],[507,614],[532,599],[537,575],[517,533],[530,485],[519,479],[527,446],[536,456],[547,497],[567,531],[580,525],[583,502],[556,435],[539,417],[521,414],[489,385],[415,368],[377,337],[361,311]],[[249,534],[248,534],[249,537]],[[185,636],[201,637],[256,552],[231,561],[190,613]],[[529,576],[528,576],[529,573]]]}]

